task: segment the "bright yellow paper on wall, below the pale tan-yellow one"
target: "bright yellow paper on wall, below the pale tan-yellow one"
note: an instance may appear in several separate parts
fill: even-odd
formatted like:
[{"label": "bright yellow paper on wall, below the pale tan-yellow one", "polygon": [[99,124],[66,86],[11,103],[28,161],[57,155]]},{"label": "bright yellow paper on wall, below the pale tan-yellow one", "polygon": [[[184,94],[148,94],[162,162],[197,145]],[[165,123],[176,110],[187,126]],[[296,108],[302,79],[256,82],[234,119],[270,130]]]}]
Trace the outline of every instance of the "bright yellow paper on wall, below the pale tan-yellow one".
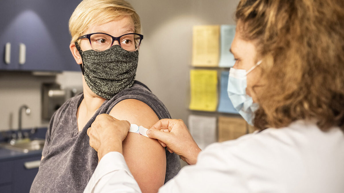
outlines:
[{"label": "bright yellow paper on wall, below the pale tan-yellow one", "polygon": [[190,71],[191,100],[189,108],[197,111],[216,111],[217,71]]}]

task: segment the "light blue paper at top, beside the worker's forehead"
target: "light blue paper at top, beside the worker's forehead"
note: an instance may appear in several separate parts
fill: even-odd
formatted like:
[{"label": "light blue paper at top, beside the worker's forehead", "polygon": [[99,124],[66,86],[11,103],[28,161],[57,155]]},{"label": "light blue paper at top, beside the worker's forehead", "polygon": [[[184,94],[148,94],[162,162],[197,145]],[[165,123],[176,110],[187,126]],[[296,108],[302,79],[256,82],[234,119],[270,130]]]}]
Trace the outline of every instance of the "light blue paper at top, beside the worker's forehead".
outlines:
[{"label": "light blue paper at top, beside the worker's forehead", "polygon": [[233,67],[235,64],[234,56],[229,52],[235,35],[235,25],[221,25],[220,27],[220,44],[221,56],[219,67]]}]

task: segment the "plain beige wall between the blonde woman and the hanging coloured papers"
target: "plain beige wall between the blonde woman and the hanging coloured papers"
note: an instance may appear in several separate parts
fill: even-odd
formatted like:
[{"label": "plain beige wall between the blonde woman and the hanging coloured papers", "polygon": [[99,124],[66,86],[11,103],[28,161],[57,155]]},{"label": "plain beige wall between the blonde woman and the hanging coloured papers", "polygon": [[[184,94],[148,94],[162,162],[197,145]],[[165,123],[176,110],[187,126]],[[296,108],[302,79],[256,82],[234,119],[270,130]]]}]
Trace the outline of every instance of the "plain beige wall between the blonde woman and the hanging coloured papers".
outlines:
[{"label": "plain beige wall between the blonde woman and the hanging coloured papers", "polygon": [[187,122],[193,25],[235,24],[239,0],[128,0],[141,18],[137,80]]}]

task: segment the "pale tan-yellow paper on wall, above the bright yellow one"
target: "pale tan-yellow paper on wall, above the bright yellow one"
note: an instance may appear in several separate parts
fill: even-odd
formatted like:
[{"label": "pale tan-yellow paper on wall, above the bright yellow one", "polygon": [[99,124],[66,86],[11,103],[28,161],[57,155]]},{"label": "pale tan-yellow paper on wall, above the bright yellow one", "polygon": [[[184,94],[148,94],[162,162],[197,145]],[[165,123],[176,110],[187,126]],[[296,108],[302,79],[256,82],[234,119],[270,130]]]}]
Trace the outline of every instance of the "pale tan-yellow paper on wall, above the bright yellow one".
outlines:
[{"label": "pale tan-yellow paper on wall, above the bright yellow one", "polygon": [[219,25],[193,27],[192,66],[218,66],[219,37]]}]

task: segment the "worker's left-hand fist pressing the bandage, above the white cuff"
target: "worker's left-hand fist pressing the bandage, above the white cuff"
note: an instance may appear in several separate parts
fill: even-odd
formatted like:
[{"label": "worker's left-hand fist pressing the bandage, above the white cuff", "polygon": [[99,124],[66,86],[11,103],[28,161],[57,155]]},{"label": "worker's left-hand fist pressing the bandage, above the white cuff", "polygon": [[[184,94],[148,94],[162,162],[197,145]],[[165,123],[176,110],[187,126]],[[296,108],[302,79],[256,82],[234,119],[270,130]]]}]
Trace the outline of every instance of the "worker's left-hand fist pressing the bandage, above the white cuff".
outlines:
[{"label": "worker's left-hand fist pressing the bandage, above the white cuff", "polygon": [[91,127],[87,129],[89,145],[98,152],[98,160],[110,151],[123,154],[122,142],[127,137],[130,123],[120,121],[108,114],[96,117]]}]

